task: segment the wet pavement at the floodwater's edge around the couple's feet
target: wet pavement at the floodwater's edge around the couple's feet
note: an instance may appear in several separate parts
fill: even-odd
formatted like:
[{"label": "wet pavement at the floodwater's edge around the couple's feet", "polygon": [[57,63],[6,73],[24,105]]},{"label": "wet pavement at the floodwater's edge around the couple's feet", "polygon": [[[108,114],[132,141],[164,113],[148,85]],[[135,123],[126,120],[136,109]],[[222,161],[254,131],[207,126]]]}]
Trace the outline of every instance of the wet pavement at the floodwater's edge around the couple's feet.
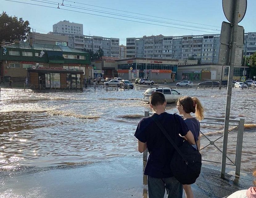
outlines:
[{"label": "wet pavement at the floodwater's edge around the couple's feet", "polygon": [[[143,185],[143,163],[140,157],[123,157],[112,162],[87,163],[82,166],[25,168],[0,171],[0,197],[7,198],[147,198]],[[10,174],[11,173],[11,174]],[[192,185],[195,198],[221,198],[252,185],[252,176],[240,179],[202,168],[196,184]],[[144,183],[146,177],[144,177]],[[185,197],[185,196],[183,196]]]}]

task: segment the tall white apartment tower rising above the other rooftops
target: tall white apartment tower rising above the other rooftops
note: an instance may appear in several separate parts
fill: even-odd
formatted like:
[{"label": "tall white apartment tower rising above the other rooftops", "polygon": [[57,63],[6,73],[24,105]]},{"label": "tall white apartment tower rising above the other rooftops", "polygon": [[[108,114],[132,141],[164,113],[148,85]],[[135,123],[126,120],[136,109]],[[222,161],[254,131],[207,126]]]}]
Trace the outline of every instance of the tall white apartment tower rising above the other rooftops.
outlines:
[{"label": "tall white apartment tower rising above the other rooftops", "polygon": [[65,33],[65,34],[77,34],[83,35],[83,24],[70,23],[67,20],[60,21],[52,26],[53,32]]}]

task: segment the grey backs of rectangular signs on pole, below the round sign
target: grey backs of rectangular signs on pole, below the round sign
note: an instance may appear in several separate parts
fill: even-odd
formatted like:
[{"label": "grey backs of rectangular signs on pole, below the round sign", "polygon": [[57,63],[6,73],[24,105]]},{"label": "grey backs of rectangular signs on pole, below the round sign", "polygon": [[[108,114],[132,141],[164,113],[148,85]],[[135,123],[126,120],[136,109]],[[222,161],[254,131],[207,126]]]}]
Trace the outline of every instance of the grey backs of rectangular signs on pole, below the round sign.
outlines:
[{"label": "grey backs of rectangular signs on pole, below the round sign", "polygon": [[[221,37],[220,37],[220,49],[219,49],[219,64],[229,65],[230,54],[230,35],[232,35],[233,27],[231,23],[222,22],[221,25]],[[235,65],[241,66],[243,60],[243,45],[244,45],[244,27],[237,27],[237,44],[235,47]]]}]

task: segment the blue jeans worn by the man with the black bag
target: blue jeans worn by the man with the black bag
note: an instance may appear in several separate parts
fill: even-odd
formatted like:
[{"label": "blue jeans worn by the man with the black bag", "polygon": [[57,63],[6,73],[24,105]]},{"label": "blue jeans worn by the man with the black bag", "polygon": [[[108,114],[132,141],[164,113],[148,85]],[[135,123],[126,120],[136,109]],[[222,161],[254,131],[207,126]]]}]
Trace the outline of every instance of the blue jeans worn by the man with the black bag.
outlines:
[{"label": "blue jeans worn by the man with the black bag", "polygon": [[148,176],[147,180],[149,198],[163,198],[165,189],[168,198],[182,198],[182,184],[175,177],[159,179]]}]

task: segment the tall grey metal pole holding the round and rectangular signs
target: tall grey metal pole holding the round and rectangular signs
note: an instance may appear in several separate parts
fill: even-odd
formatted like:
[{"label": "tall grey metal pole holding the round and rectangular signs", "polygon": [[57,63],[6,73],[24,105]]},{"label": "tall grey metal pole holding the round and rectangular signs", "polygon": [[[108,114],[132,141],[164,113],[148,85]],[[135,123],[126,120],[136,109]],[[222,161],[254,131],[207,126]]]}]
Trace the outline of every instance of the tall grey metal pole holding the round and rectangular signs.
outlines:
[{"label": "tall grey metal pole holding the round and rectangular signs", "polygon": [[240,0],[234,1],[234,12],[233,12],[233,31],[232,31],[232,43],[231,52],[229,55],[229,79],[228,79],[228,89],[227,89],[227,101],[226,101],[226,111],[225,111],[225,122],[224,122],[224,134],[223,134],[223,150],[222,150],[222,160],[221,160],[221,178],[225,178],[226,171],[226,160],[227,160],[227,145],[228,145],[228,134],[229,134],[229,115],[230,115],[230,104],[231,104],[231,94],[232,94],[232,81],[233,72],[235,64],[235,51],[237,44],[237,27],[238,27],[238,15],[239,15],[239,2]]}]

